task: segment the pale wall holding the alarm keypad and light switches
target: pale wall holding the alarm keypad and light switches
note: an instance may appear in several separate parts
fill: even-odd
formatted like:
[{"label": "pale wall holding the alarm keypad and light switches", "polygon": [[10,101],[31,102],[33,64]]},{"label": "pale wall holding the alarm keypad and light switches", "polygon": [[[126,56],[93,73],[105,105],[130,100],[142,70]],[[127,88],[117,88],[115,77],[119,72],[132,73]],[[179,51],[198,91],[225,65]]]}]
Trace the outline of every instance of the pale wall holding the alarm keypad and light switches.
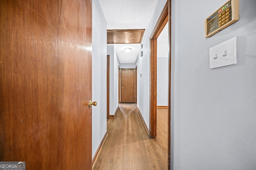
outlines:
[{"label": "pale wall holding the alarm keypad and light switches", "polygon": [[[224,2],[172,0],[172,170],[256,169],[256,1],[240,0],[240,20],[206,39]],[[233,37],[237,64],[209,69],[210,47]]]}]

